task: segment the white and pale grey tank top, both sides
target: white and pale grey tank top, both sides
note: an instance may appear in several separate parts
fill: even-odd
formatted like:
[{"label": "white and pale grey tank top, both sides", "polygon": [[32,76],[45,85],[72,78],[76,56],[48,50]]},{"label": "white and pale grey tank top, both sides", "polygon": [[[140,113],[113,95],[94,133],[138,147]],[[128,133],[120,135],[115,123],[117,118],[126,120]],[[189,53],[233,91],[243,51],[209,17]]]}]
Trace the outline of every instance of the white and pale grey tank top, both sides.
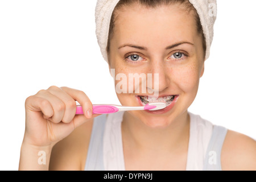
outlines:
[{"label": "white and pale grey tank top, both sides", "polygon": [[[94,118],[85,170],[124,171],[121,122],[124,111]],[[221,170],[221,148],[227,130],[189,113],[187,171]]]}]

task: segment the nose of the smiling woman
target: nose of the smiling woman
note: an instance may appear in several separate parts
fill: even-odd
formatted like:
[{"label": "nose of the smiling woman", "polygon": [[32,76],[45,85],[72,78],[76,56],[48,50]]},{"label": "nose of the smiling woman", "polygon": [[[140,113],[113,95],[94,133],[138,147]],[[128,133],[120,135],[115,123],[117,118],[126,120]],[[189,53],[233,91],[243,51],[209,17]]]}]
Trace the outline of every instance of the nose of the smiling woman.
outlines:
[{"label": "nose of the smiling woman", "polygon": [[150,61],[149,73],[152,73],[152,89],[153,92],[163,92],[168,86],[170,86],[170,73],[168,68],[164,64],[163,59],[154,59]]}]

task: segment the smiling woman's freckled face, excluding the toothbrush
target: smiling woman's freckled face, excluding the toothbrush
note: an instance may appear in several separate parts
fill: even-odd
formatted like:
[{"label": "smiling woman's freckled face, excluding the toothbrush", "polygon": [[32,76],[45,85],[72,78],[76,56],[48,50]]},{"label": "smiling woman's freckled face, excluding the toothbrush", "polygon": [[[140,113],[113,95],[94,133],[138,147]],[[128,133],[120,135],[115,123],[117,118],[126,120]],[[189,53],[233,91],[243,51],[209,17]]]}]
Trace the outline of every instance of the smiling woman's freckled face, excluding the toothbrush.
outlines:
[{"label": "smiling woman's freckled face, excluding the toothbrush", "polygon": [[[116,86],[121,81],[127,83],[127,92],[117,93],[119,101],[126,106],[158,101],[168,104],[158,111],[129,111],[147,126],[167,127],[187,114],[204,72],[203,55],[203,38],[197,32],[192,11],[188,13],[180,5],[148,9],[138,4],[118,10],[110,40],[109,66],[114,69],[115,78],[127,78],[127,82],[122,80],[125,77],[115,80]],[[129,74],[135,73],[144,74],[147,79],[151,73],[153,87],[147,85],[145,92],[142,79],[139,84],[135,77],[129,79]],[[139,92],[135,90],[138,86]],[[159,96],[158,101],[155,96]]]}]

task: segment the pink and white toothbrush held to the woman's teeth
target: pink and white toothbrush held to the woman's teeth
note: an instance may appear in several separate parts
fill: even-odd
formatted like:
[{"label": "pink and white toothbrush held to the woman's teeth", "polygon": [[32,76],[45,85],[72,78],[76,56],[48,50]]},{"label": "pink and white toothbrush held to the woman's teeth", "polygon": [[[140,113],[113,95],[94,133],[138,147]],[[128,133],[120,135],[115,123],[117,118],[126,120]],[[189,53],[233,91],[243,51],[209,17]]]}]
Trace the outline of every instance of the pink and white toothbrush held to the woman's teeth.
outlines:
[{"label": "pink and white toothbrush held to the woman's teeth", "polygon": [[[93,105],[93,114],[110,114],[116,113],[118,111],[127,111],[127,110],[160,110],[166,107],[164,102],[152,102],[148,103],[145,106],[119,106],[119,105],[106,105],[106,104],[95,104]],[[84,114],[82,111],[82,106],[77,105],[76,114]]]}]

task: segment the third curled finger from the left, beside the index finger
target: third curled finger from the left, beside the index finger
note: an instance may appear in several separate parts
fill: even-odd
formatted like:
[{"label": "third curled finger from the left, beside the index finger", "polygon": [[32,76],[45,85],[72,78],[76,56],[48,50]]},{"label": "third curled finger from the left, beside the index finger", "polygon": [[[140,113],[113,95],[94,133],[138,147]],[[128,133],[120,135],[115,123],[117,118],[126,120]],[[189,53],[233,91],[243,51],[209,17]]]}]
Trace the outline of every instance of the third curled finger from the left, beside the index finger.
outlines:
[{"label": "third curled finger from the left, beside the index finger", "polygon": [[63,89],[60,89],[57,86],[51,86],[49,92],[54,96],[58,97],[65,104],[64,116],[62,122],[69,123],[76,115],[76,101],[69,96]]}]

